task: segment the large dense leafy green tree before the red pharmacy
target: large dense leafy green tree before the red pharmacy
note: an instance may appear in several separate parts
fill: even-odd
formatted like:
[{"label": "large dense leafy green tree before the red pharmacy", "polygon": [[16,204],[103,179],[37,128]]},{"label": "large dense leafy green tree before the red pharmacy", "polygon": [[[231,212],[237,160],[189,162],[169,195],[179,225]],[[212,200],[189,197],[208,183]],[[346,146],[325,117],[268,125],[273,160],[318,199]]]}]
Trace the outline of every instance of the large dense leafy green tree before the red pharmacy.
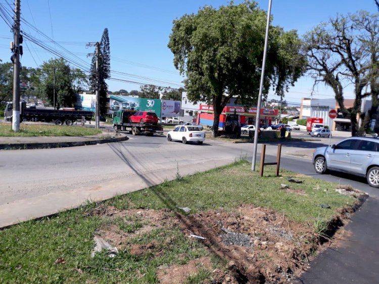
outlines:
[{"label": "large dense leafy green tree before the red pharmacy", "polygon": [[[174,20],[168,47],[174,66],[185,74],[187,97],[213,105],[212,132],[216,136],[221,111],[234,97],[246,107],[259,93],[267,14],[257,3],[231,2],[218,10],[205,6],[197,14]],[[303,74],[297,32],[270,26],[263,94],[272,86],[282,99]]]}]

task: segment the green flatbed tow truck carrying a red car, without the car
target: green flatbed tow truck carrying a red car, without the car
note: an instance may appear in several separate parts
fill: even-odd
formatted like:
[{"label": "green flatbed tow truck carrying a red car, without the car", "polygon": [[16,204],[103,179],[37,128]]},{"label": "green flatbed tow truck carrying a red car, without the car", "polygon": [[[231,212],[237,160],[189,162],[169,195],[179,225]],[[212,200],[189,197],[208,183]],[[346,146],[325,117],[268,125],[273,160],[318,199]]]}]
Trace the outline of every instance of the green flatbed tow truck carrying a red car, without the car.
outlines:
[{"label": "green flatbed tow truck carrying a red car, without the car", "polygon": [[129,117],[135,111],[131,110],[118,110],[113,113],[113,129],[115,132],[128,131],[132,135],[145,133],[147,136],[153,136],[154,133],[163,133],[163,126],[160,124],[147,124],[147,123],[130,123]]}]

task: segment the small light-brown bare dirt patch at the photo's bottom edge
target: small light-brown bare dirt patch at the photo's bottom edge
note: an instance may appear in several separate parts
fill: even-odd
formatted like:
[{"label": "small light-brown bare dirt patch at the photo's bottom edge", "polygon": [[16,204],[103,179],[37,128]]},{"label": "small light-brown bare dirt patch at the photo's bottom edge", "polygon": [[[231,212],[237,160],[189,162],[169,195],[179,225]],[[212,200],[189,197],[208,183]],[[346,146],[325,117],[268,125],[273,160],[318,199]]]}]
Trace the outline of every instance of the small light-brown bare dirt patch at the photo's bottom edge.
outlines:
[{"label": "small light-brown bare dirt patch at the photo's bottom edge", "polygon": [[184,283],[188,276],[195,276],[201,268],[211,270],[212,264],[209,257],[194,259],[184,265],[159,267],[157,277],[161,284]]}]

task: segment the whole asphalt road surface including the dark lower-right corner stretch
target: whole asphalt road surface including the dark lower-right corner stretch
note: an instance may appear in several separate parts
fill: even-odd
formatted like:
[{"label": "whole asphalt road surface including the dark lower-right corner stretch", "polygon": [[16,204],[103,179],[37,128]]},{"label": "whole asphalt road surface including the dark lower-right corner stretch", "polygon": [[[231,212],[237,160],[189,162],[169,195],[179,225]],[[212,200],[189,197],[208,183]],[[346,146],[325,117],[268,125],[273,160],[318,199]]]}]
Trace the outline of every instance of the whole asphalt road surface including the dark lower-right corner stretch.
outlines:
[{"label": "whole asphalt road surface including the dark lower-right corner stretch", "polygon": [[[294,137],[309,137],[293,131]],[[337,143],[346,133],[334,135]],[[319,175],[313,170],[314,148],[328,138],[284,142],[281,168],[315,178],[350,184],[370,195],[346,226],[349,242],[327,249],[299,280],[301,283],[371,283],[379,277],[379,190],[364,178],[341,173]],[[139,190],[165,178],[207,170],[236,159],[252,158],[252,144],[207,140],[202,146],[168,142],[164,136],[131,136],[122,143],[43,150],[2,151],[0,169],[0,227],[52,214],[86,200],[102,200]],[[260,152],[261,146],[258,146]],[[266,148],[266,161],[274,161],[276,145]],[[259,159],[259,154],[258,154]]]}]

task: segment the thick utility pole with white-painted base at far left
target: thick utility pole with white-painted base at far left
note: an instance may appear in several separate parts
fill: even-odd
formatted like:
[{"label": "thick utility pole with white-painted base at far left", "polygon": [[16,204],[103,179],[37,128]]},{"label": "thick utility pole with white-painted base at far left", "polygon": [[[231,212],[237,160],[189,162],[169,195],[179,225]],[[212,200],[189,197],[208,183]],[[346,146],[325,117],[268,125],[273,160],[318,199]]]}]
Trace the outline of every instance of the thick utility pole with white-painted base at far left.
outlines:
[{"label": "thick utility pole with white-painted base at far left", "polygon": [[20,130],[20,1],[15,0],[12,130]]}]

